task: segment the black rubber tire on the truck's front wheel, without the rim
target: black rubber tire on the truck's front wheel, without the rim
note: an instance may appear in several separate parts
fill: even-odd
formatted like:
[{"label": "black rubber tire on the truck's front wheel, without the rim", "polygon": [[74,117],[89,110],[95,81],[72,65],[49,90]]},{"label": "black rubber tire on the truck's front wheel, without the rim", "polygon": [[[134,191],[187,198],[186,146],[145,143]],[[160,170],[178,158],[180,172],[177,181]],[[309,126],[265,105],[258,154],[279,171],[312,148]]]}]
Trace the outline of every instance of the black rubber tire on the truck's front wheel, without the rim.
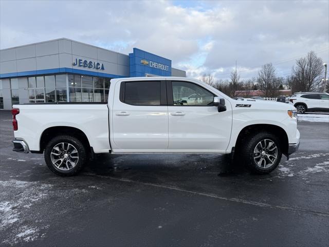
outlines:
[{"label": "black rubber tire on the truck's front wheel, without the rim", "polygon": [[[277,151],[275,151],[275,152],[277,152],[277,155],[276,155],[277,158],[275,161],[270,161],[269,160],[270,156],[268,154],[266,155],[266,153],[264,153],[266,156],[262,156],[262,157],[264,157],[265,164],[266,164],[266,162],[273,163],[269,167],[266,167],[266,168],[265,168],[265,165],[264,165],[264,167],[260,167],[255,162],[255,158],[257,158],[257,157],[255,157],[256,155],[254,154],[254,150],[255,150],[256,146],[262,140],[263,141],[270,140],[277,147]],[[266,145],[264,145],[264,146],[266,146]],[[245,139],[240,150],[242,151],[242,160],[244,161],[245,165],[248,167],[248,169],[251,172],[258,173],[258,174],[267,174],[267,173],[270,173],[271,171],[273,171],[274,169],[276,169],[276,167],[279,165],[279,163],[281,161],[281,157],[282,157],[279,139],[272,133],[266,132],[266,131],[250,134],[248,136],[248,138]],[[261,152],[259,152],[259,153],[260,153],[260,155],[262,154]],[[262,157],[260,157],[260,158],[262,158]],[[263,165],[263,162],[261,162],[261,165]]]}]

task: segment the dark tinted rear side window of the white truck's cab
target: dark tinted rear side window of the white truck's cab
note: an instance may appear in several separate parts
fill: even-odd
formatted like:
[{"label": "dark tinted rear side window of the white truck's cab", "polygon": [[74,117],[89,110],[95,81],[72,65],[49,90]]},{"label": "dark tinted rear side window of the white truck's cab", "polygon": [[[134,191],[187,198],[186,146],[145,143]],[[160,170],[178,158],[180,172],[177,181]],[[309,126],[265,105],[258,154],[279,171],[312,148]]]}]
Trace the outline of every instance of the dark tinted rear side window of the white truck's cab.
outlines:
[{"label": "dark tinted rear side window of the white truck's cab", "polygon": [[160,105],[160,81],[125,82],[122,102],[132,105]]}]

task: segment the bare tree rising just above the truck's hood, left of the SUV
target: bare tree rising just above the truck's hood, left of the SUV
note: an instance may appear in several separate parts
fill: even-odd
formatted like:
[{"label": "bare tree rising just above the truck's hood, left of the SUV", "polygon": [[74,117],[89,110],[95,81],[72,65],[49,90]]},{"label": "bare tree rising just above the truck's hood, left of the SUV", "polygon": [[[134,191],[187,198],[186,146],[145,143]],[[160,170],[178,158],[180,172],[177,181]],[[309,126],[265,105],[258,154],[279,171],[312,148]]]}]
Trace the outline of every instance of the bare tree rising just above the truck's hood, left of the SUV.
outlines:
[{"label": "bare tree rising just above the truck's hood, left of the SUV", "polygon": [[276,97],[281,81],[276,77],[276,68],[272,63],[262,66],[258,72],[258,83],[264,97]]}]

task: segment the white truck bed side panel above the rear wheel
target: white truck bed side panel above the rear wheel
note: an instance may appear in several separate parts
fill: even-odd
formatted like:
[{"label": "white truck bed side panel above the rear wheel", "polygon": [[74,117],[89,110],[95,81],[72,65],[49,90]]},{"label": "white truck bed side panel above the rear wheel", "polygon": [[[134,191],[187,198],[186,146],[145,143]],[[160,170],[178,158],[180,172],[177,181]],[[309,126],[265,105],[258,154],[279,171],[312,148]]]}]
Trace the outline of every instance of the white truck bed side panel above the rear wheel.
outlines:
[{"label": "white truck bed side panel above the rear wheel", "polygon": [[26,140],[31,151],[40,150],[43,132],[53,126],[81,130],[95,153],[111,150],[106,102],[16,104],[13,108],[20,109],[16,115],[18,130],[15,136]]}]

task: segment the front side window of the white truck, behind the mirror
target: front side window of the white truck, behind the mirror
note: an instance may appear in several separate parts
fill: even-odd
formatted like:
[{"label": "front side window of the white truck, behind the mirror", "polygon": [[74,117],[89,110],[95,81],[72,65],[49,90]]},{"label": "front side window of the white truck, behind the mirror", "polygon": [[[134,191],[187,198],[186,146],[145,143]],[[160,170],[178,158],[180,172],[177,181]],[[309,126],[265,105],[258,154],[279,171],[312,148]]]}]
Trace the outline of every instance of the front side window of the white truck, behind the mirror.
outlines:
[{"label": "front side window of the white truck, behind the mirror", "polygon": [[173,81],[174,105],[205,106],[210,105],[214,95],[203,87],[185,81]]}]

